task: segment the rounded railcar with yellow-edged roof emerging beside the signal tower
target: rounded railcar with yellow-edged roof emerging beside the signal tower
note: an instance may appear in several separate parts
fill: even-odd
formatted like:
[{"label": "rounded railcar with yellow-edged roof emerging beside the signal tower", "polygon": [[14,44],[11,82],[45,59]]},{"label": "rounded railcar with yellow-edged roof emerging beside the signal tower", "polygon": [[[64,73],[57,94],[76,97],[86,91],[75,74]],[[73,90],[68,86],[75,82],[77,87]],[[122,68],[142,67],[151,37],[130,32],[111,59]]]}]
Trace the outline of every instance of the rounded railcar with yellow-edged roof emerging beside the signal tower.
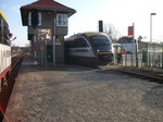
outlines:
[{"label": "rounded railcar with yellow-edged roof emerging beside the signal tower", "polygon": [[112,40],[104,33],[79,33],[65,39],[65,60],[86,65],[113,61]]}]

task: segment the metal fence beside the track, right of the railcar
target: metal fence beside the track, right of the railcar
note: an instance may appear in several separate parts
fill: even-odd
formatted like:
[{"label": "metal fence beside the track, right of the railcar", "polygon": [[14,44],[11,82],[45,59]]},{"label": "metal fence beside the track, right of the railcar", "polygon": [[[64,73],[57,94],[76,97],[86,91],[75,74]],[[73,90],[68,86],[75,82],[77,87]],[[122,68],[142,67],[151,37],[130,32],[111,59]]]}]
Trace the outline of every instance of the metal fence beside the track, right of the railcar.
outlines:
[{"label": "metal fence beside the track, right of the railcar", "polygon": [[[115,58],[114,58],[115,59]],[[163,69],[163,44],[148,44],[147,48],[140,49],[137,53],[138,61],[136,62],[136,53],[122,54],[122,65],[139,68],[162,68]],[[117,62],[114,60],[114,63]],[[117,64],[117,63],[116,63]]]}]

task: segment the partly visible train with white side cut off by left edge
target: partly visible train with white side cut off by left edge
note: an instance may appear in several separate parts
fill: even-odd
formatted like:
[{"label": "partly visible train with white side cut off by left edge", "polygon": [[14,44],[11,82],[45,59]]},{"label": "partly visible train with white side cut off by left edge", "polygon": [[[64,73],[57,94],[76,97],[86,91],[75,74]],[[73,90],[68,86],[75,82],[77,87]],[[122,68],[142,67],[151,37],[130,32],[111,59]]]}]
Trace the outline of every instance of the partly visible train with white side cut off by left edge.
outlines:
[{"label": "partly visible train with white side cut off by left edge", "polygon": [[7,19],[0,11],[0,93],[8,85],[7,78],[11,70],[11,47],[8,44],[10,34]]}]

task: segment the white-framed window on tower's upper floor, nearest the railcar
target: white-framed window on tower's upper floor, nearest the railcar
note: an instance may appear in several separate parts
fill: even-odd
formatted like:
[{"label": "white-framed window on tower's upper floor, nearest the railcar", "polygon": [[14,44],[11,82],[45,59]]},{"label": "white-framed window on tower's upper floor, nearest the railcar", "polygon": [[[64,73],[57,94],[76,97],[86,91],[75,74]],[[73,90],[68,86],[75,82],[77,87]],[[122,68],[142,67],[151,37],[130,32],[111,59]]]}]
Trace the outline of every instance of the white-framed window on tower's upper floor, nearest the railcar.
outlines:
[{"label": "white-framed window on tower's upper floor, nearest the railcar", "polygon": [[57,14],[57,26],[67,26],[67,14]]}]

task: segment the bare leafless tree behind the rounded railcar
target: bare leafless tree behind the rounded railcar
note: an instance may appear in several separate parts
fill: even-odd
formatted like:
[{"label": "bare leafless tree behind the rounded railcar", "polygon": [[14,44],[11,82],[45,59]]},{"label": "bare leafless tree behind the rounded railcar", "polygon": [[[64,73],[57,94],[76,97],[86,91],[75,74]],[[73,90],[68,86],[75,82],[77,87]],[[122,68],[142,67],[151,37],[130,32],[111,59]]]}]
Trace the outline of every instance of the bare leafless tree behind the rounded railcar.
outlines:
[{"label": "bare leafless tree behind the rounded railcar", "polygon": [[113,40],[117,41],[121,34],[120,32],[113,26],[113,24],[104,24],[103,32]]}]

